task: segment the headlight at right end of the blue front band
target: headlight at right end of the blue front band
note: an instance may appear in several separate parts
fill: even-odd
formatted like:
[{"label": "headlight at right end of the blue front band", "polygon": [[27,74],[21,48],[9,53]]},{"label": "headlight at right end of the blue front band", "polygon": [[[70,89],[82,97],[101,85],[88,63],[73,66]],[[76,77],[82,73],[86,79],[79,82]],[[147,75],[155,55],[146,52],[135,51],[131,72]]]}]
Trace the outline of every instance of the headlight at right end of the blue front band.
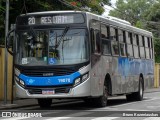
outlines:
[{"label": "headlight at right end of the blue front band", "polygon": [[89,72],[81,75],[80,77],[76,78],[75,81],[74,81],[74,87],[83,83],[84,81],[86,81],[87,79],[89,78]]}]

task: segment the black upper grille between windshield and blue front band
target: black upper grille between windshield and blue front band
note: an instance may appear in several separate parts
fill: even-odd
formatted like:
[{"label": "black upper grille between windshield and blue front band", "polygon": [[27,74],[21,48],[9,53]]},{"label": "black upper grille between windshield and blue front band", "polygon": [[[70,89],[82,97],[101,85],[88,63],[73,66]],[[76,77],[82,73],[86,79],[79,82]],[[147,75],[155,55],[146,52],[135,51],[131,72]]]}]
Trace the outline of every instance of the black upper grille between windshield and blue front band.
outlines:
[{"label": "black upper grille between windshield and blue front band", "polygon": [[38,68],[38,69],[24,68],[21,70],[22,74],[32,77],[63,76],[63,75],[70,75],[74,72],[76,72],[76,70],[69,68]]}]

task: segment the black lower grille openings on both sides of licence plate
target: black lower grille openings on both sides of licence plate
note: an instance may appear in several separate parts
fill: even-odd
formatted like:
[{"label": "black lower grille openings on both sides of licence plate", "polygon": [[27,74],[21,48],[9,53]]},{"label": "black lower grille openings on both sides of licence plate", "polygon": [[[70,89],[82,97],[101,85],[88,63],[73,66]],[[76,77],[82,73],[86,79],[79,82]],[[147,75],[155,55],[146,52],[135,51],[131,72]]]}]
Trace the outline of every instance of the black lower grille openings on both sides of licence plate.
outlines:
[{"label": "black lower grille openings on both sides of licence plate", "polygon": [[[58,93],[69,93],[70,88],[55,88],[55,94]],[[42,94],[42,89],[28,89],[30,94]]]}]

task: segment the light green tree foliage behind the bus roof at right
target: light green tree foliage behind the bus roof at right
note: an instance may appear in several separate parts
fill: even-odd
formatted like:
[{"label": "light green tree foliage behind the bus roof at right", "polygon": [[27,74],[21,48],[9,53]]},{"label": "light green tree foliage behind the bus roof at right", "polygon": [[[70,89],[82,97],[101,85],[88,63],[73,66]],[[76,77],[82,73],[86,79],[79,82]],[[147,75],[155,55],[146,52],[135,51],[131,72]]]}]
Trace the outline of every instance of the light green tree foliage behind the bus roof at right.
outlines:
[{"label": "light green tree foliage behind the bus roof at right", "polygon": [[154,35],[155,60],[160,62],[160,0],[118,0],[111,16],[129,21]]}]

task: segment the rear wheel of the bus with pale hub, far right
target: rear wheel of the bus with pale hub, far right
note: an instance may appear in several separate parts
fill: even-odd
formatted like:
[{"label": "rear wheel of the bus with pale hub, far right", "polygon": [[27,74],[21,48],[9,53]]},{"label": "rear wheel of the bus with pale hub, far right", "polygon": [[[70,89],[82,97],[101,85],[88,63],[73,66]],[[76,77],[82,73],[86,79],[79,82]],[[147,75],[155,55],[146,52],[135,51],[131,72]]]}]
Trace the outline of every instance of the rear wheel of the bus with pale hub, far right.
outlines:
[{"label": "rear wheel of the bus with pale hub, far right", "polygon": [[126,98],[127,98],[127,101],[142,101],[143,94],[144,94],[144,90],[143,90],[142,77],[140,77],[138,92],[126,95]]}]

